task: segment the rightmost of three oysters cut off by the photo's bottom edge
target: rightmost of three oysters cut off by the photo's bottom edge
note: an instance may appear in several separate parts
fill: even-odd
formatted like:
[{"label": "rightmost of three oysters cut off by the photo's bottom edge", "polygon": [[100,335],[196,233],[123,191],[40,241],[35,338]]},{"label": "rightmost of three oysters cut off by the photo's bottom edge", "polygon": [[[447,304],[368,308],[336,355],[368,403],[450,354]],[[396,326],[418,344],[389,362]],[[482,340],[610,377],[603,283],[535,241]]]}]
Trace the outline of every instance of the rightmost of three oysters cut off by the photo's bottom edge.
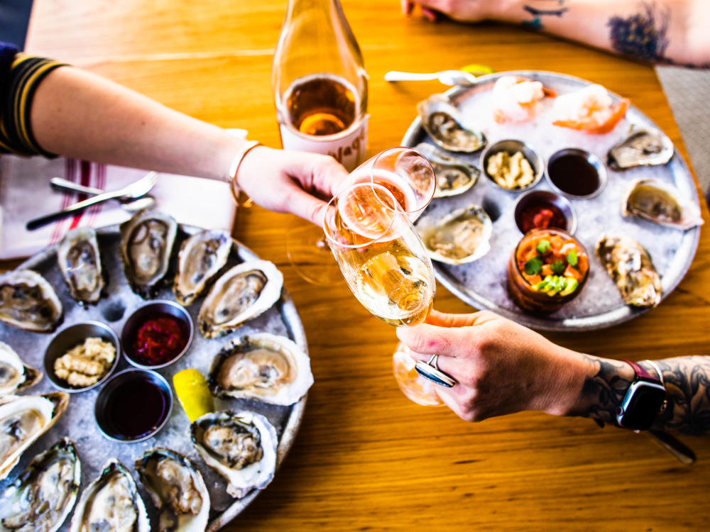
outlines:
[{"label": "rightmost of three oysters cut off by the photo's bottom edge", "polygon": [[143,486],[160,511],[160,532],[203,532],[209,518],[209,492],[190,460],[174,450],[147,450],[136,460]]}]

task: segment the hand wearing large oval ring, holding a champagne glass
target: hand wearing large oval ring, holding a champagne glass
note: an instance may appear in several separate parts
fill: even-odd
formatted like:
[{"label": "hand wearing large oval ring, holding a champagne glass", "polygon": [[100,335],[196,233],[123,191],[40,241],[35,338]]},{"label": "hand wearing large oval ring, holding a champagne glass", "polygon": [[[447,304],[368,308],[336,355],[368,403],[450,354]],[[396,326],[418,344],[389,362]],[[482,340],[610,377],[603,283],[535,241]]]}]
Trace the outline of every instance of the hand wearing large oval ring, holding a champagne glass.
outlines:
[{"label": "hand wearing large oval ring, holding a champagne glass", "polygon": [[439,368],[458,384],[437,394],[466,421],[521,410],[568,414],[589,371],[579,353],[488,311],[432,311],[427,323],[400,327],[397,336],[418,360],[439,355]]}]

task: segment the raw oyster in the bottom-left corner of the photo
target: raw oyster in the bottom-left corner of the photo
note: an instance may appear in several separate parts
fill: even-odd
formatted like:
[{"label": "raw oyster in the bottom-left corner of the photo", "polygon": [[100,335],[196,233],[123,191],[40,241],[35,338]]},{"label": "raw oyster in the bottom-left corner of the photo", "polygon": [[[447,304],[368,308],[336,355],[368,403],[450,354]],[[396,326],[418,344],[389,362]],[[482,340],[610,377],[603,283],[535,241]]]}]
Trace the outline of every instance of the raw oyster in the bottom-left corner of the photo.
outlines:
[{"label": "raw oyster in the bottom-left corner of the photo", "polygon": [[81,462],[69,438],[35,456],[0,497],[0,531],[54,532],[79,492]]}]

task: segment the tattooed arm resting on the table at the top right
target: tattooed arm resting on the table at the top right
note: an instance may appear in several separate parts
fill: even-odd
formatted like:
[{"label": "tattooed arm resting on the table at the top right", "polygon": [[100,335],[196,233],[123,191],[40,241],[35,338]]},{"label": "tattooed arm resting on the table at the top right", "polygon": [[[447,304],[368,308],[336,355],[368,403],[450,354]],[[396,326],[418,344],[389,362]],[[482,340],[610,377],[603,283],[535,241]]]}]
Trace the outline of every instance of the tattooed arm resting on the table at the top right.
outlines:
[{"label": "tattooed arm resting on the table at the top right", "polygon": [[403,0],[403,11],[415,4],[431,20],[520,23],[636,60],[710,66],[708,0]]}]

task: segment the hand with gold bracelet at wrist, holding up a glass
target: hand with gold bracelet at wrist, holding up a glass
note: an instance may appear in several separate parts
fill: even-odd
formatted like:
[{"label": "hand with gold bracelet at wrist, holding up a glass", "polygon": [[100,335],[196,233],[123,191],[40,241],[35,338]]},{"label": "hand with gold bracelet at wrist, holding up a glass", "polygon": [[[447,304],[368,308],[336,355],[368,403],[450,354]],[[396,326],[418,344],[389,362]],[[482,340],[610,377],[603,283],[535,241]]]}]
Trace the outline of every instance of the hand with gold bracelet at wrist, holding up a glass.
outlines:
[{"label": "hand with gold bracelet at wrist, holding up a glass", "polygon": [[348,172],[329,155],[257,146],[239,165],[236,182],[256,204],[290,212],[322,225],[323,198],[330,198]]}]

